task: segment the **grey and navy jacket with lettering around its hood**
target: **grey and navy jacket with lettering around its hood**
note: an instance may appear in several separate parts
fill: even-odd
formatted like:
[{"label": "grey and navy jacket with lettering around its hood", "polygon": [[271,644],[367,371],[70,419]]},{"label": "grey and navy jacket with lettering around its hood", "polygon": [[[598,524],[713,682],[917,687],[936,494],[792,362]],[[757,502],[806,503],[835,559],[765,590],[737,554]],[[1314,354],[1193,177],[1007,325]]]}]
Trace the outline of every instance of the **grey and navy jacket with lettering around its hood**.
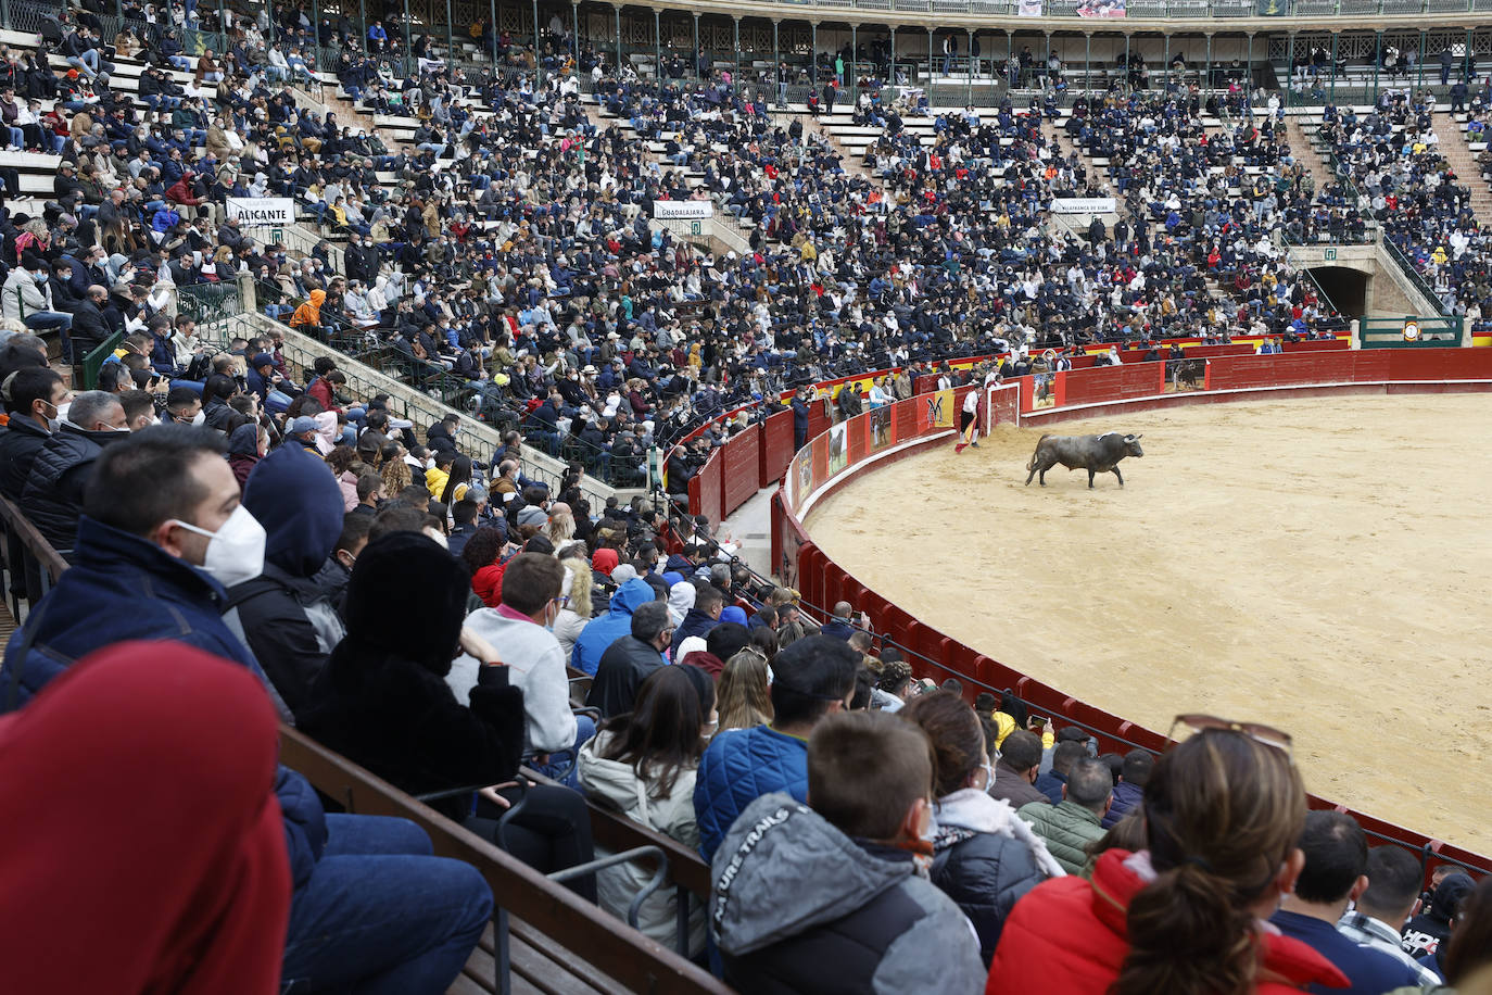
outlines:
[{"label": "grey and navy jacket with lettering around its hood", "polygon": [[746,807],[715,853],[712,879],[710,929],[727,980],[742,991],[985,988],[973,926],[912,859],[865,850],[789,795]]}]

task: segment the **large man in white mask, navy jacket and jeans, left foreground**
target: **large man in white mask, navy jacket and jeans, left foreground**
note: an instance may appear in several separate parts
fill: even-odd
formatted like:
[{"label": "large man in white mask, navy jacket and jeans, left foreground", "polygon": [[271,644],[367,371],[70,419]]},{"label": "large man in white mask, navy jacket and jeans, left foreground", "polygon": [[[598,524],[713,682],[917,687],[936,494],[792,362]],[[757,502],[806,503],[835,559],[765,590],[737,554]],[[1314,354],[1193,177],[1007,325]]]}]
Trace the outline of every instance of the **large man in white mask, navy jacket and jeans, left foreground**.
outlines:
[{"label": "large man in white mask, navy jacket and jeans, left foreground", "polygon": [[[61,674],[63,661],[125,640],[186,643],[264,680],[219,618],[224,585],[260,573],[264,530],[239,503],[218,433],[160,425],[106,449],[84,497],[78,540],[76,564],[6,647],[0,688],[16,694],[0,698],[0,709],[25,704]],[[283,704],[276,704],[285,718]],[[309,988],[315,979],[372,988],[388,979],[397,986],[416,965],[428,971],[443,962],[439,953],[466,935],[473,917],[480,932],[491,910],[485,882],[470,867],[433,859],[418,826],[327,814],[310,785],[283,767],[275,791],[294,889],[286,985]],[[397,920],[377,914],[395,903]],[[458,917],[457,908],[470,914]]]}]

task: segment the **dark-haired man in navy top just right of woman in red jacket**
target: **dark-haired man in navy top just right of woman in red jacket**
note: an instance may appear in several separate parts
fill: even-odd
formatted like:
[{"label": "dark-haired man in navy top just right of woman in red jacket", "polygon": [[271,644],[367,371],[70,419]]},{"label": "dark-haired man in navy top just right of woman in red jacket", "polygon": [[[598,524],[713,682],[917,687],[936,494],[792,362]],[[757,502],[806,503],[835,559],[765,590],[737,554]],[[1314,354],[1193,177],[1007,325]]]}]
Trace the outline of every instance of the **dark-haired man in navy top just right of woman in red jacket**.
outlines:
[{"label": "dark-haired man in navy top just right of woman in red jacket", "polygon": [[1382,995],[1401,986],[1417,986],[1419,971],[1394,956],[1359,946],[1337,931],[1347,905],[1367,889],[1368,837],[1344,812],[1307,812],[1300,853],[1306,864],[1295,891],[1280,901],[1270,923],[1310,946],[1331,961],[1358,995]]}]

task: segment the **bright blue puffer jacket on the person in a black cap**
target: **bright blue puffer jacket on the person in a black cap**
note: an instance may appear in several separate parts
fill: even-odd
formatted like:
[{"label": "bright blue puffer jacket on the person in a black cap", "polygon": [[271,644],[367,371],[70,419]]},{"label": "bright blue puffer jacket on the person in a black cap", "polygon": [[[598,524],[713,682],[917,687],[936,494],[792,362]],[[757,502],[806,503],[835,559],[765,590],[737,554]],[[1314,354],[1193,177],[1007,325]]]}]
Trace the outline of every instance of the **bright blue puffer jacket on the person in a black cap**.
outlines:
[{"label": "bright blue puffer jacket on the person in a black cap", "polygon": [[694,780],[694,817],[706,862],[746,806],[774,791],[809,800],[809,744],[765,725],[716,735]]}]

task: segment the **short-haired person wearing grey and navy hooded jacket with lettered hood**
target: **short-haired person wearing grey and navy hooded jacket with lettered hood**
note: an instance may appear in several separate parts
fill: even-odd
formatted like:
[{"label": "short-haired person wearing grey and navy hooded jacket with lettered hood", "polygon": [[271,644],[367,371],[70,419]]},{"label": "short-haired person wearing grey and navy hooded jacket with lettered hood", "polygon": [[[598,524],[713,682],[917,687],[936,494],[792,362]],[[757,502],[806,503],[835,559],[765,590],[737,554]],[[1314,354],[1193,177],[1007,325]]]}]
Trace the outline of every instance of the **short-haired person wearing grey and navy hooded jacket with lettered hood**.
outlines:
[{"label": "short-haired person wearing grey and navy hooded jacket with lettered hood", "polygon": [[880,712],[831,715],[804,765],[812,807],[753,800],[715,856],[725,980],[742,992],[982,991],[973,928],[916,870],[932,823],[922,731]]}]

